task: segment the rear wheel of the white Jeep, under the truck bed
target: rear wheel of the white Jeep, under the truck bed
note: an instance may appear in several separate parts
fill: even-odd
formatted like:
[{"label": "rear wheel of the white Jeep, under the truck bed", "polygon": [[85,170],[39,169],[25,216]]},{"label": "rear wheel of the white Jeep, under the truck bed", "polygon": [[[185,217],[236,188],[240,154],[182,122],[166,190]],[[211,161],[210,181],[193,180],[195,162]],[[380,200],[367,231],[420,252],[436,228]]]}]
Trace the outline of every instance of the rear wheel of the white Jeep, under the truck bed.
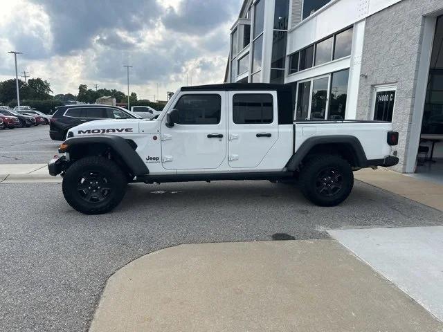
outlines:
[{"label": "rear wheel of the white Jeep, under the truck bed", "polygon": [[335,206],[347,199],[354,186],[354,174],[339,156],[311,158],[300,173],[300,187],[309,201],[320,206]]}]

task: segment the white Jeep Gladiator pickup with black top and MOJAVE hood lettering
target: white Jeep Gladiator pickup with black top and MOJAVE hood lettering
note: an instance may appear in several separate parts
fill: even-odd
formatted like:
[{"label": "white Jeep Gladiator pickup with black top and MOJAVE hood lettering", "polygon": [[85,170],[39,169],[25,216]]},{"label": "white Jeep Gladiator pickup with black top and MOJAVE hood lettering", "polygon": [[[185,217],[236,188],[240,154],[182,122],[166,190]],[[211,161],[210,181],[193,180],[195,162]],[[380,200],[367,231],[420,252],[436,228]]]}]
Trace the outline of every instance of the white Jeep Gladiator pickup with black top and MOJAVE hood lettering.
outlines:
[{"label": "white Jeep Gladiator pickup with black top and MOJAVE hood lettering", "polygon": [[127,183],[294,181],[313,203],[349,196],[353,171],[398,163],[390,122],[293,121],[282,84],[183,87],[152,120],[96,120],[69,130],[49,173],[85,214],[118,205]]}]

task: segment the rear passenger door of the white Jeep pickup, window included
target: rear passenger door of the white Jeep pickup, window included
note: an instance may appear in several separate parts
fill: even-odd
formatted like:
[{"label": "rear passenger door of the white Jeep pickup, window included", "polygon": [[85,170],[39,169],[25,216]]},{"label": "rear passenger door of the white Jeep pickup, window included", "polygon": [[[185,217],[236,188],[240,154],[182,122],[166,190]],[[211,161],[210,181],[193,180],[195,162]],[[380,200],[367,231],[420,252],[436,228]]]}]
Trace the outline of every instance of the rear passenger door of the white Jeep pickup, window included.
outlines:
[{"label": "rear passenger door of the white Jeep pickup, window included", "polygon": [[228,158],[233,168],[258,167],[278,140],[275,91],[230,91]]}]

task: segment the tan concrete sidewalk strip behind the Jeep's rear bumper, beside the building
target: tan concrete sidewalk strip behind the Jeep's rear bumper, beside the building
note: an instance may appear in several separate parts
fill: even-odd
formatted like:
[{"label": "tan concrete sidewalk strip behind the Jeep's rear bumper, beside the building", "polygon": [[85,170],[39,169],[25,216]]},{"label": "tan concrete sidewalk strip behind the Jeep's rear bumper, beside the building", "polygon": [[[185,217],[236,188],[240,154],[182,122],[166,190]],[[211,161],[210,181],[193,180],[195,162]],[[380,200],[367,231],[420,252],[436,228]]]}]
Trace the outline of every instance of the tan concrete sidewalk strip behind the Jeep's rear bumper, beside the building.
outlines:
[{"label": "tan concrete sidewalk strip behind the Jeep's rear bumper, beside the building", "polygon": [[443,211],[443,185],[413,178],[386,168],[361,169],[354,172],[354,177],[374,187]]}]

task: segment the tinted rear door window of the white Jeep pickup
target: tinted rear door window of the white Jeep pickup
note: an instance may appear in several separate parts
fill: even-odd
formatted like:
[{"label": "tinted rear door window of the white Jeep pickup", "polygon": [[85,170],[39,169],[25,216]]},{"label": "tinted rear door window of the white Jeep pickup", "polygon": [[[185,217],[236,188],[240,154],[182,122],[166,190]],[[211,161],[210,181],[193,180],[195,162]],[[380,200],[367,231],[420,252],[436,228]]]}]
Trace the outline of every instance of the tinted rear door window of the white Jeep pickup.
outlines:
[{"label": "tinted rear door window of the white Jeep pickup", "polygon": [[233,120],[235,124],[272,123],[272,95],[267,93],[234,95]]}]

